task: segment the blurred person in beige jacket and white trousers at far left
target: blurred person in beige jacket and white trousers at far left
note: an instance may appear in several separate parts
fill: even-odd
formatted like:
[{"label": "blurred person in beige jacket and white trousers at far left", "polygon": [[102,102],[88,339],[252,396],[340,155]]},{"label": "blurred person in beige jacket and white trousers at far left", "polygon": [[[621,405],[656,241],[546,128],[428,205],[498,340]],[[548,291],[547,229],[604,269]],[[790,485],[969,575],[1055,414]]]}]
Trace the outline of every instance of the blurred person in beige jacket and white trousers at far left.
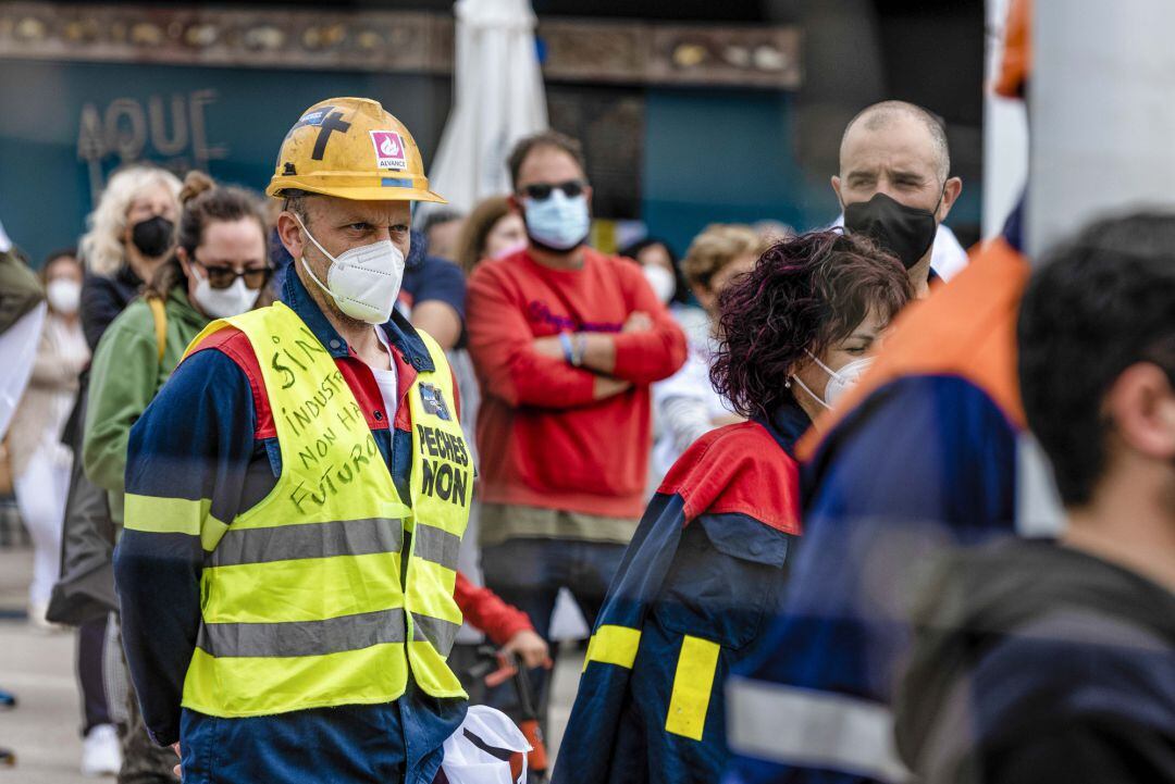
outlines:
[{"label": "blurred person in beige jacket and white trousers at far left", "polygon": [[49,256],[41,268],[48,313],[41,326],[33,374],[13,418],[11,448],[16,503],[33,538],[29,620],[47,628],[45,610],[58,579],[61,525],[73,454],[61,442],[78,394],[78,377],[89,361],[78,306],[82,269],[74,250]]}]

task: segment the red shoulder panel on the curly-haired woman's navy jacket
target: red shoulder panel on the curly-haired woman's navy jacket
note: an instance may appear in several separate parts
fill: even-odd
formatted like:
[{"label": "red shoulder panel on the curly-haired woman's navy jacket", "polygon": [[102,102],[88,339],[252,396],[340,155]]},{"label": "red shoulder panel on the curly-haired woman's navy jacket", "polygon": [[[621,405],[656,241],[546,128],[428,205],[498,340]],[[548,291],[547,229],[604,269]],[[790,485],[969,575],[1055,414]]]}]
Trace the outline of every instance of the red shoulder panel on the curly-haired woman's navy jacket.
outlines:
[{"label": "red shoulder panel on the curly-haired woman's navy jacket", "polygon": [[685,451],[659,493],[680,495],[689,523],[705,513],[746,514],[800,533],[799,466],[757,423],[713,430]]}]

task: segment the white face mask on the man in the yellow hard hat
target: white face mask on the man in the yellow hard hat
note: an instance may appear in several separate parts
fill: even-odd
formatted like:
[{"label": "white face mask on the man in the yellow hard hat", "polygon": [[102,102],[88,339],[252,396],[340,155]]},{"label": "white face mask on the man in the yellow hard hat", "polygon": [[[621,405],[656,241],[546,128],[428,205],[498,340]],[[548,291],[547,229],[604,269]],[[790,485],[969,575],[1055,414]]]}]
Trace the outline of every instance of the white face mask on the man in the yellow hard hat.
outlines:
[{"label": "white face mask on the man in the yellow hard hat", "polygon": [[337,257],[331,256],[314,238],[302,218],[296,214],[294,218],[314,246],[330,259],[325,284],[310,270],[306,254],[302,255],[302,266],[310,279],[334,298],[338,310],[368,324],[383,324],[391,318],[396,297],[400,296],[400,284],[404,279],[404,255],[400,249],[390,239],[381,239],[370,245],[351,248]]}]

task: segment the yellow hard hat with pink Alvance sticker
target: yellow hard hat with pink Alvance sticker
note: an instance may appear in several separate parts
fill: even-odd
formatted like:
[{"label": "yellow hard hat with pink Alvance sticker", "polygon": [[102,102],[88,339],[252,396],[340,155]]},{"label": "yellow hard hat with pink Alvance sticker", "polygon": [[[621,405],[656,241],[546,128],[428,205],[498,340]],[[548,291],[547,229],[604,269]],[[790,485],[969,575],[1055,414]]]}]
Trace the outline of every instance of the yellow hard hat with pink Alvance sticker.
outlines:
[{"label": "yellow hard hat with pink Alvance sticker", "polygon": [[429,190],[416,141],[370,99],[320,101],[302,113],[282,149],[266,195],[287,190],[361,201],[439,202]]}]

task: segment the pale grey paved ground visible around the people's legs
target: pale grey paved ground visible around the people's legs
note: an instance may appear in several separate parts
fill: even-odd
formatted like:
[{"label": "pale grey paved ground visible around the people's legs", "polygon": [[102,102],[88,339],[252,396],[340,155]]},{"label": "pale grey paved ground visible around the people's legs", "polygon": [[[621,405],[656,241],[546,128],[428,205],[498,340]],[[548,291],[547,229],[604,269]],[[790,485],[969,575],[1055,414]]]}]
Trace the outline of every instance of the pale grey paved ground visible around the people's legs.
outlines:
[{"label": "pale grey paved ground visible around the people's legs", "polygon": [[[0,548],[0,688],[20,697],[16,710],[0,712],[0,745],[18,753],[15,768],[0,768],[0,784],[89,782],[78,772],[81,741],[74,636],[47,635],[24,620],[31,563],[29,550]],[[571,654],[559,661],[551,707],[552,752],[566,724],[582,656]]]}]

